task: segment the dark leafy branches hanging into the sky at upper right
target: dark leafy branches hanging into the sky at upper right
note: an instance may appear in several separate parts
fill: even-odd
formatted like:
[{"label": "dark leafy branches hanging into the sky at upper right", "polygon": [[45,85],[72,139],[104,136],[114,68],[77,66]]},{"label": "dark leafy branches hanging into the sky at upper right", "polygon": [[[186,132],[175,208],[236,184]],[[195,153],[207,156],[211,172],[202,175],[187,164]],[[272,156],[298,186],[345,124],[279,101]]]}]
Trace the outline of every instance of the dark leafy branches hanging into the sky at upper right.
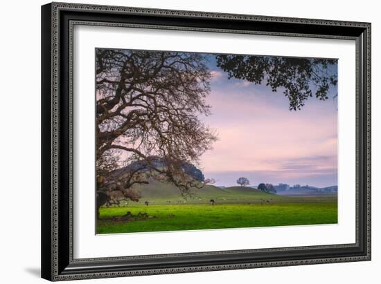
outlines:
[{"label": "dark leafy branches hanging into the sky at upper right", "polygon": [[217,66],[229,79],[245,79],[276,92],[281,88],[290,101],[290,110],[299,110],[308,97],[328,99],[337,85],[337,59],[274,57],[258,55],[216,55]]}]

